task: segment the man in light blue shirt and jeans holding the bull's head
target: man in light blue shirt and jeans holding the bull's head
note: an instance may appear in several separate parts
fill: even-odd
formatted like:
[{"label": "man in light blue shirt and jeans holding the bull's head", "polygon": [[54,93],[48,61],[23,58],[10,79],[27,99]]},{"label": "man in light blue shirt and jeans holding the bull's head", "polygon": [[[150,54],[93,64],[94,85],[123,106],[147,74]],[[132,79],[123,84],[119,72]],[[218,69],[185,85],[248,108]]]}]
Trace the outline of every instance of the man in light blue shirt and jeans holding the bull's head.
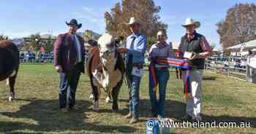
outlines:
[{"label": "man in light blue shirt and jeans holding the bull's head", "polygon": [[138,103],[140,95],[140,79],[143,75],[144,54],[146,52],[146,36],[140,34],[140,23],[131,17],[129,20],[132,35],[127,37],[126,47],[118,47],[119,52],[126,53],[127,83],[129,87],[129,114],[125,118],[129,123],[138,122]]}]

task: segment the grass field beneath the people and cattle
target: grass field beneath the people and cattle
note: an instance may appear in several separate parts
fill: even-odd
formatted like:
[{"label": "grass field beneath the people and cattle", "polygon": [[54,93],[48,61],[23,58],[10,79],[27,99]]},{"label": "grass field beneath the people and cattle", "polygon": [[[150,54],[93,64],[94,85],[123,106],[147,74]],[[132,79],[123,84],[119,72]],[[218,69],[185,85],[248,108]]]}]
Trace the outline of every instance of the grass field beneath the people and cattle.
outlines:
[{"label": "grass field beneath the people and cattle", "polygon": [[[78,111],[63,114],[59,111],[59,76],[52,65],[20,66],[16,94],[18,99],[7,100],[9,89],[0,82],[0,133],[145,133],[146,120],[151,115],[148,100],[148,72],[140,88],[140,122],[129,125],[127,114],[128,90],[123,84],[119,93],[119,110],[100,99],[100,111],[92,111],[89,100],[91,87],[86,75],[80,78]],[[186,104],[182,83],[171,71],[167,84],[165,117],[181,121]],[[175,128],[174,133],[256,133],[256,85],[241,82],[214,72],[205,71],[203,81],[203,119],[207,122],[250,122],[251,128]]]}]

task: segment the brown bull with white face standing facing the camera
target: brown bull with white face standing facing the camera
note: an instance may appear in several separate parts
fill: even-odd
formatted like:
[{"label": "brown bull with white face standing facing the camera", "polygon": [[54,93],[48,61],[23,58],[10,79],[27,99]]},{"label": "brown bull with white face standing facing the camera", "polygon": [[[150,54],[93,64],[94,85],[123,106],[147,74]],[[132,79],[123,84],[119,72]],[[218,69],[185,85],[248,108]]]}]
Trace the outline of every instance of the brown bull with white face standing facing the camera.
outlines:
[{"label": "brown bull with white face standing facing the camera", "polygon": [[116,49],[116,41],[108,33],[98,40],[99,47],[91,47],[90,58],[86,63],[87,73],[91,80],[94,99],[94,111],[99,111],[100,89],[107,93],[106,101],[113,99],[113,111],[118,110],[118,92],[123,83],[124,60]]}]

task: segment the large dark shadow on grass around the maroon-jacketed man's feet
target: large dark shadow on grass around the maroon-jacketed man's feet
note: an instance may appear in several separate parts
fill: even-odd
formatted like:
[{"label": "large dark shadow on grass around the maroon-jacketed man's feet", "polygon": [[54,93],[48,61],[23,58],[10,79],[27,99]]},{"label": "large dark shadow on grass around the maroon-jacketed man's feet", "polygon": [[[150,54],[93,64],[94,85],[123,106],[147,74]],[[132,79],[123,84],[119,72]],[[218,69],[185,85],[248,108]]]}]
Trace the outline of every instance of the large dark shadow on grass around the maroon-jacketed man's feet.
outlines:
[{"label": "large dark shadow on grass around the maroon-jacketed man's feet", "polygon": [[[86,111],[91,111],[90,101],[78,100],[79,109],[63,113],[59,110],[59,100],[18,100],[28,101],[15,112],[0,112],[0,116],[14,118],[15,121],[0,121],[0,133],[22,133],[23,130],[33,133],[79,131],[83,133],[134,133],[136,129],[127,125],[102,125],[99,122],[88,122]],[[20,120],[20,122],[19,122]],[[24,120],[26,120],[24,122]],[[21,132],[20,132],[21,131]],[[26,133],[26,132],[25,132]]]}]

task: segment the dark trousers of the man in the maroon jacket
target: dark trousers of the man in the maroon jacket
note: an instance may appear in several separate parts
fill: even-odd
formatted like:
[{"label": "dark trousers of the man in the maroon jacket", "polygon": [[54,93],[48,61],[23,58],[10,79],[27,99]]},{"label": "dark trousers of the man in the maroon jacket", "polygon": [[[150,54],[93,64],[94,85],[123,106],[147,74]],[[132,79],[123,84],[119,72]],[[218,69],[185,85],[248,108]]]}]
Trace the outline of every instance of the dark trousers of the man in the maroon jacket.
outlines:
[{"label": "dark trousers of the man in the maroon jacket", "polygon": [[59,73],[59,108],[66,106],[72,108],[75,105],[75,92],[78,87],[80,70],[73,69],[68,72]]}]

